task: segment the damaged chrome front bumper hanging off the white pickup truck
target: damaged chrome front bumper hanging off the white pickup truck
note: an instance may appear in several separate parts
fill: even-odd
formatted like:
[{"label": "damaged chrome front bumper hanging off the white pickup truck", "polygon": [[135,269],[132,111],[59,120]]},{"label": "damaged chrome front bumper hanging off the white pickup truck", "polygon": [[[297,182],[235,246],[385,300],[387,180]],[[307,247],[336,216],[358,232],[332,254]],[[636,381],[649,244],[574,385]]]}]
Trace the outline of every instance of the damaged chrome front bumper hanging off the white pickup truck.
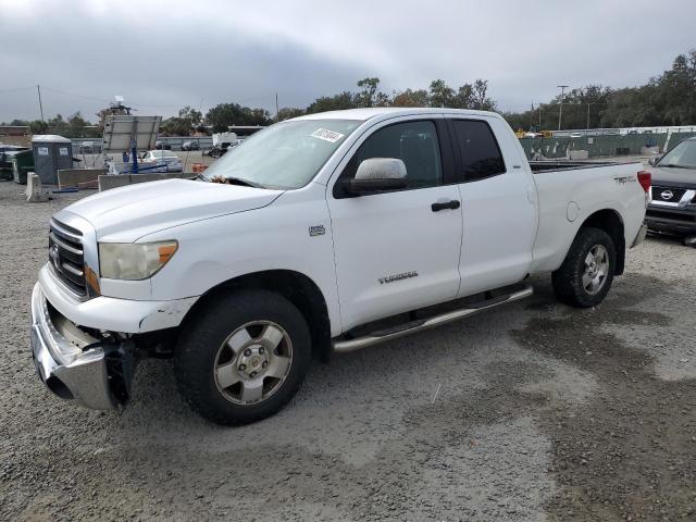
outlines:
[{"label": "damaged chrome front bumper hanging off the white pickup truck", "polygon": [[129,397],[135,345],[98,339],[47,301],[37,283],[32,294],[32,351],[46,386],[62,399],[109,410]]}]

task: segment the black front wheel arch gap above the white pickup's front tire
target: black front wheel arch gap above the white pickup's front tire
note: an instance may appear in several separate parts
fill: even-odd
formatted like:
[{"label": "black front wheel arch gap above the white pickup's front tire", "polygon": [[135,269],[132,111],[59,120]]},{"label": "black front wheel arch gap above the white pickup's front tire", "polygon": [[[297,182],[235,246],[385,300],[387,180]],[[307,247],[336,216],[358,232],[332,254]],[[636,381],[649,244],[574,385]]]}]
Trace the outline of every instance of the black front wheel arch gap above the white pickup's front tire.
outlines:
[{"label": "black front wheel arch gap above the white pickup's front tire", "polygon": [[182,325],[221,294],[235,289],[263,289],[285,297],[304,316],[312,336],[312,357],[322,362],[331,358],[331,320],[326,300],[319,286],[307,275],[294,270],[264,270],[220,283],[206,291],[191,307]]}]

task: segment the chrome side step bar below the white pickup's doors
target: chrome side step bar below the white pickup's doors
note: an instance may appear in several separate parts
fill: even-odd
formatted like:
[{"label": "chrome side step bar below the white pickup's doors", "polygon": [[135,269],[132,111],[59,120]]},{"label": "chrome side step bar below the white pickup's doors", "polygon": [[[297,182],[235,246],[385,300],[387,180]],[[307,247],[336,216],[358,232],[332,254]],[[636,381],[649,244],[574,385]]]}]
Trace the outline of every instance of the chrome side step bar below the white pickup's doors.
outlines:
[{"label": "chrome side step bar below the white pickup's doors", "polygon": [[452,310],[451,312],[433,315],[432,318],[407,323],[406,325],[403,325],[405,327],[400,330],[395,331],[394,328],[390,328],[389,331],[384,331],[382,333],[373,332],[370,335],[356,337],[353,339],[337,339],[332,341],[333,350],[335,353],[347,353],[349,351],[360,350],[378,343],[393,340],[399,337],[403,337],[405,335],[415,334],[418,332],[434,328],[443,324],[451,323],[452,321],[457,321],[468,315],[473,315],[474,313],[478,313],[489,308],[499,307],[500,304],[505,304],[507,302],[519,301],[520,299],[530,297],[532,294],[534,294],[533,288],[531,286],[526,286],[523,289],[514,291],[507,296],[500,296],[487,301],[481,301],[480,303],[476,303],[469,308],[461,308],[459,310]]}]

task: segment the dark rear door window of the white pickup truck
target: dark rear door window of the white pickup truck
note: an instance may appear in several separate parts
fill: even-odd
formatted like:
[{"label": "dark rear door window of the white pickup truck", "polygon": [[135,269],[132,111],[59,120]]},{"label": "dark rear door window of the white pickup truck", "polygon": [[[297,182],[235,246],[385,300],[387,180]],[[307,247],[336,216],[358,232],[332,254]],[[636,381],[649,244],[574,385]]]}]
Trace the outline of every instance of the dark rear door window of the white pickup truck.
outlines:
[{"label": "dark rear door window of the white pickup truck", "polygon": [[451,120],[451,123],[461,157],[459,182],[475,182],[506,172],[500,147],[486,122]]}]

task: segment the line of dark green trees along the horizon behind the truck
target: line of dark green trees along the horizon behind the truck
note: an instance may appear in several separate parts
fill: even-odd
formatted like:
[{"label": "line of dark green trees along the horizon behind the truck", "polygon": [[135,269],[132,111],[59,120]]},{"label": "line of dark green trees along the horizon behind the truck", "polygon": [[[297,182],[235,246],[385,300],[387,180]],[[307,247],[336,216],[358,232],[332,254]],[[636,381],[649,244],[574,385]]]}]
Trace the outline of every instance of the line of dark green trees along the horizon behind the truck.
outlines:
[{"label": "line of dark green trees along the horizon behind the truck", "polygon": [[[176,116],[162,121],[163,135],[188,136],[192,132],[214,133],[231,125],[270,125],[271,123],[311,114],[369,107],[447,107],[495,111],[497,103],[488,95],[488,80],[476,79],[452,88],[443,79],[434,79],[427,89],[408,88],[384,92],[378,77],[357,83],[357,90],[345,90],[316,98],[307,108],[284,107],[272,115],[268,110],[239,103],[220,103],[204,115],[190,107]],[[526,111],[502,112],[514,129],[555,129],[559,124],[560,95],[548,102],[531,105]],[[60,114],[42,122],[13,120],[10,125],[28,125],[32,134],[59,134],[66,137],[98,137],[110,108],[97,113],[95,125],[76,112],[67,120]],[[3,122],[3,124],[5,124]],[[5,124],[7,125],[7,124]],[[696,125],[696,49],[678,55],[670,70],[637,87],[610,88],[587,85],[573,88],[562,99],[562,128],[635,127],[660,125]]]}]

